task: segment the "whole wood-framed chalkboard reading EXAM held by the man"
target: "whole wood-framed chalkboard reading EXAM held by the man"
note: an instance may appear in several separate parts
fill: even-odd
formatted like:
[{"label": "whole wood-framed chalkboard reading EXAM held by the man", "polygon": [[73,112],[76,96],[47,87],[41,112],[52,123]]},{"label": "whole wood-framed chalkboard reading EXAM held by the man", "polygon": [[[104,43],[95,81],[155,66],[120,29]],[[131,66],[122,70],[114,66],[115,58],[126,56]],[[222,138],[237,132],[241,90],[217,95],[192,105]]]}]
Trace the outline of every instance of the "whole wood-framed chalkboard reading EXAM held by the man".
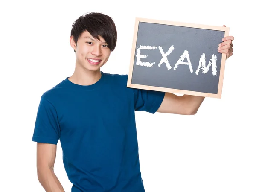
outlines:
[{"label": "whole wood-framed chalkboard reading EXAM held by the man", "polygon": [[136,18],[127,87],[221,98],[228,27]]}]

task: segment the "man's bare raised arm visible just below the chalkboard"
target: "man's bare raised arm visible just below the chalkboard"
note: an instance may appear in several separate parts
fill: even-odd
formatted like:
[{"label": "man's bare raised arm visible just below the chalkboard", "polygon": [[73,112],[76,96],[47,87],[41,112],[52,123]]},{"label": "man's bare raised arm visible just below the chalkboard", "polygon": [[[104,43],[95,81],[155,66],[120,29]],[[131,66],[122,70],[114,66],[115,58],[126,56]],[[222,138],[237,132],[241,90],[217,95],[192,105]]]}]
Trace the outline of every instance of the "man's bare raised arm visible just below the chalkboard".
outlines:
[{"label": "man's bare raised arm visible just below the chalkboard", "polygon": [[198,111],[198,108],[203,101],[204,97],[201,96],[177,96],[173,93],[165,93],[163,102],[158,108],[157,112],[194,115]]}]

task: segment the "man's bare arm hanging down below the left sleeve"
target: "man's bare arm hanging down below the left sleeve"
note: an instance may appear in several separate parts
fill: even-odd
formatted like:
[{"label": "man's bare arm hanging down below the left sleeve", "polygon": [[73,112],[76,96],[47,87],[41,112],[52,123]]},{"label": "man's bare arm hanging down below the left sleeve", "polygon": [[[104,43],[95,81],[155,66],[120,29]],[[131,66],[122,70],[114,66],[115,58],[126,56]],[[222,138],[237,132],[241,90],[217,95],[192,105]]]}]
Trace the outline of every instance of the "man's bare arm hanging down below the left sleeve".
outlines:
[{"label": "man's bare arm hanging down below the left sleeve", "polygon": [[57,145],[54,144],[37,143],[38,180],[46,192],[64,192],[60,181],[53,171],[56,149]]}]

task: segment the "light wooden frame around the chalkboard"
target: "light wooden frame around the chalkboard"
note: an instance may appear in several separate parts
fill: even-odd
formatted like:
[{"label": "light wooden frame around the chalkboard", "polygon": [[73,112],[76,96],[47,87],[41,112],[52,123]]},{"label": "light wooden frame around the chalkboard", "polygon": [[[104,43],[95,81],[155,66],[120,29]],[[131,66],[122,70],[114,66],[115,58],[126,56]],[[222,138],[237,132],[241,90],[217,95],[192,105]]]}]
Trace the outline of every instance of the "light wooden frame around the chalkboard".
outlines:
[{"label": "light wooden frame around the chalkboard", "polygon": [[127,81],[127,87],[130,87],[130,88],[139,88],[139,89],[145,89],[145,90],[156,90],[156,91],[170,92],[170,93],[180,93],[180,94],[188,94],[188,95],[195,95],[195,96],[221,98],[222,84],[223,84],[223,78],[224,78],[224,68],[225,68],[225,61],[226,61],[225,53],[222,53],[222,58],[221,58],[221,69],[220,69],[220,76],[219,76],[219,83],[218,83],[218,94],[195,92],[195,91],[189,91],[189,90],[178,90],[178,89],[165,88],[165,87],[154,87],[154,86],[140,85],[140,84],[132,84],[131,80],[132,80],[133,67],[134,67],[134,57],[135,57],[139,22],[166,24],[166,25],[174,25],[174,26],[186,26],[186,27],[192,27],[192,28],[224,31],[224,37],[229,35],[228,27],[209,26],[209,25],[194,24],[194,23],[181,23],[181,22],[173,22],[173,21],[166,21],[166,20],[153,20],[153,19],[136,17],[135,26],[134,26],[134,38],[133,38],[132,49],[131,49],[131,61],[130,61],[130,67],[129,67],[128,81]]}]

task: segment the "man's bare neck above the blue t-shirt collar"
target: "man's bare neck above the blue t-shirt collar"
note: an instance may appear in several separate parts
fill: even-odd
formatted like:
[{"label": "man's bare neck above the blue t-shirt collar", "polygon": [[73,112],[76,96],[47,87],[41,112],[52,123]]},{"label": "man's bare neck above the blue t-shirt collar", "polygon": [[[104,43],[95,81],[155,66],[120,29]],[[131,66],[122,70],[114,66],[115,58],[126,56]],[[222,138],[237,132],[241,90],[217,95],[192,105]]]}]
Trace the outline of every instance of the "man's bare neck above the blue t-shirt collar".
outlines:
[{"label": "man's bare neck above the blue t-shirt collar", "polygon": [[97,71],[89,71],[86,69],[78,69],[77,65],[75,71],[72,76],[68,79],[74,83],[79,85],[92,85],[95,84],[101,78],[100,69]]}]

